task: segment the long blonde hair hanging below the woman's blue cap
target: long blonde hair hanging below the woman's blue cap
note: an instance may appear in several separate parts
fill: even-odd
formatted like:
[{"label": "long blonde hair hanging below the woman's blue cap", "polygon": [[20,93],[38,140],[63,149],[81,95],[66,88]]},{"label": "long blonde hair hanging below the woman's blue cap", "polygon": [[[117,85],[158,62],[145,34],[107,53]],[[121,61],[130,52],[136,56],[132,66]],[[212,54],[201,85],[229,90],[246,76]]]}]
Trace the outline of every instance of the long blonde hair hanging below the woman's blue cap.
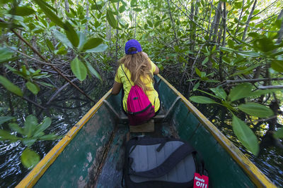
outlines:
[{"label": "long blonde hair hanging below the woman's blue cap", "polygon": [[[131,49],[134,51],[135,48]],[[125,68],[131,73],[131,80],[135,85],[141,87],[144,92],[151,91],[152,89],[146,87],[146,84],[153,82],[154,78],[151,73],[151,63],[148,56],[144,52],[138,52],[137,54],[125,55],[120,58],[120,65],[124,64]],[[141,77],[146,83],[141,81]]]}]

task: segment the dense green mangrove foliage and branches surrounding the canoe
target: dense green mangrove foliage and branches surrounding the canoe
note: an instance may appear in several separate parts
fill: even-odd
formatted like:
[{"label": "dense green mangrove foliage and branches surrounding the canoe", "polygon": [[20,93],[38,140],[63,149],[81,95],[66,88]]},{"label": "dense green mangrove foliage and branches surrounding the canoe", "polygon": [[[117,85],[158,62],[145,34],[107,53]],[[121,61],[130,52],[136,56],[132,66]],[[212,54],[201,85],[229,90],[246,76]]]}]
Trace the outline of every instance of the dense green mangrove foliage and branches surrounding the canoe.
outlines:
[{"label": "dense green mangrove foliage and branches surrounding the canoe", "polygon": [[16,135],[24,148],[56,139],[24,122],[44,124],[58,101],[74,111],[94,104],[134,38],[187,98],[223,106],[227,129],[248,151],[282,153],[282,7],[279,0],[0,0],[0,139]]}]

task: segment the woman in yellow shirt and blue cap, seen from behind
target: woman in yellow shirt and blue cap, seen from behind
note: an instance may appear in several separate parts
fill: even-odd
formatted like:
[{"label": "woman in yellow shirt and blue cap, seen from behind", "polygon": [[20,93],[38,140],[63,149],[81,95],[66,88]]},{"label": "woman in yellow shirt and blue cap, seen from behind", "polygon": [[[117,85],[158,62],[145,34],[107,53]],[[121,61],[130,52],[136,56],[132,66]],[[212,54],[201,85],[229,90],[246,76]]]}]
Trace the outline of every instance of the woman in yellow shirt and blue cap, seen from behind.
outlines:
[{"label": "woman in yellow shirt and blue cap, seen from behind", "polygon": [[119,94],[123,87],[125,94],[122,99],[123,110],[127,112],[127,98],[132,86],[138,85],[148,96],[155,114],[160,108],[158,92],[154,89],[154,75],[159,73],[158,67],[152,63],[141,44],[135,39],[129,40],[125,45],[125,56],[120,59],[120,65],[115,75],[112,94]]}]

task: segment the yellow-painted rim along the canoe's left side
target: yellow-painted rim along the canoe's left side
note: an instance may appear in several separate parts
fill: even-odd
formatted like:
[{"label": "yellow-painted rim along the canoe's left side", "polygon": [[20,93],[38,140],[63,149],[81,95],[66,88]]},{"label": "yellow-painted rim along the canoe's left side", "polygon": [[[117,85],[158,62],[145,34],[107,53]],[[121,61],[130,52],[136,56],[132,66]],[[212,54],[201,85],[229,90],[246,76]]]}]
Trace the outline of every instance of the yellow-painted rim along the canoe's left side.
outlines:
[{"label": "yellow-painted rim along the canoe's left side", "polygon": [[45,173],[47,168],[55,161],[57,156],[64,150],[64,148],[71,142],[71,140],[76,136],[76,134],[81,130],[83,125],[85,125],[91,117],[98,111],[98,108],[102,106],[103,100],[108,99],[111,94],[111,89],[91,108],[91,110],[86,113],[86,115],[79,120],[74,127],[69,130],[69,132],[63,137],[61,141],[59,141],[48,153],[42,158],[42,160],[33,168],[33,170],[28,173],[28,175],[21,180],[21,182],[16,186],[19,187],[33,187],[37,180]]}]

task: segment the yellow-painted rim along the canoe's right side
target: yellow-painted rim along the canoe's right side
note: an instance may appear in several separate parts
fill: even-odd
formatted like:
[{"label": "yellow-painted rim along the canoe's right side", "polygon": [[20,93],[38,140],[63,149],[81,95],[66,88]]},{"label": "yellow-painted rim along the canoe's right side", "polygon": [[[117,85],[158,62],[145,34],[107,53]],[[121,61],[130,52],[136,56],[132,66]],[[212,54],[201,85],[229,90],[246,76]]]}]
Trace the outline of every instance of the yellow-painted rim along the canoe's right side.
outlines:
[{"label": "yellow-painted rim along the canoe's right side", "polygon": [[176,95],[180,96],[185,106],[197,117],[198,120],[204,125],[204,127],[214,136],[217,142],[226,149],[226,151],[232,156],[232,158],[238,163],[238,165],[243,168],[247,173],[250,180],[257,187],[276,187],[275,184],[266,177],[259,169],[255,166],[229,139],[227,139],[224,134],[222,134],[195,106],[193,106],[190,101],[188,101],[183,94],[178,92],[167,80],[165,80],[161,75],[158,77],[165,82],[168,87],[170,87]]}]

